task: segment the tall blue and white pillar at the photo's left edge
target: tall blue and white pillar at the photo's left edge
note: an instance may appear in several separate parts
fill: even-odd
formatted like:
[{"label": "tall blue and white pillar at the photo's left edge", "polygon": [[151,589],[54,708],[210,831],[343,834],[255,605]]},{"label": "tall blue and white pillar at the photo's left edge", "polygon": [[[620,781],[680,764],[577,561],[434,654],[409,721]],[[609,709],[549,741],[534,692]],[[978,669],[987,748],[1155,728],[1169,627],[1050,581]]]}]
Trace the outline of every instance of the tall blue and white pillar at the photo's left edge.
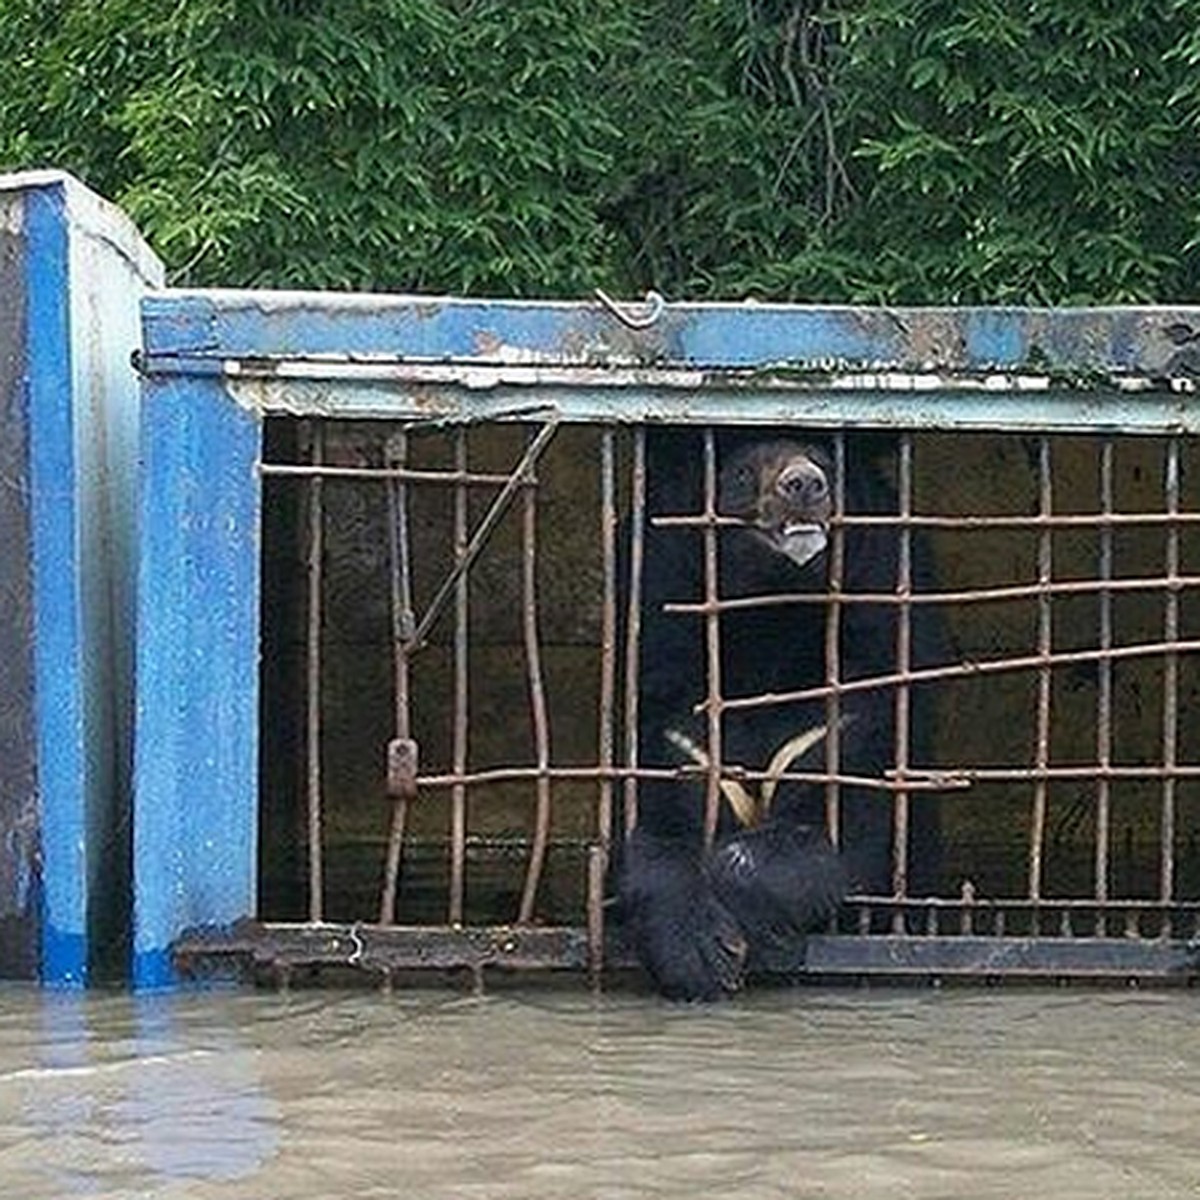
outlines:
[{"label": "tall blue and white pillar at the photo's left edge", "polygon": [[132,622],[114,595],[130,570],[122,497],[134,464],[109,426],[136,413],[137,301],[161,265],[120,212],[58,173],[0,178],[0,212],[24,310],[19,344],[0,350],[19,364],[5,436],[20,443],[26,540],[6,551],[14,576],[28,568],[20,702],[31,754],[22,770],[32,788],[0,829],[0,876],[20,881],[6,901],[24,905],[30,938],[26,954],[0,958],[0,974],[78,985],[119,972],[124,956],[130,730],[116,697],[130,694],[118,664]]}]

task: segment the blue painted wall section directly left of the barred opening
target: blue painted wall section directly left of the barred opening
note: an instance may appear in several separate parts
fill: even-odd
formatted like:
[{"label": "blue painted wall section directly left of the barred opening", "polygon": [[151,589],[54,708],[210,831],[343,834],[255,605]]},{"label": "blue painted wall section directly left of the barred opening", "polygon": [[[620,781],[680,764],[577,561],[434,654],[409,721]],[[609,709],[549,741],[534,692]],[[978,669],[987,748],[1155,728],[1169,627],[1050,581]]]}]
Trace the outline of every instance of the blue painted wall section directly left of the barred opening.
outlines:
[{"label": "blue painted wall section directly left of the barred opening", "polygon": [[206,380],[145,388],[133,978],[190,925],[253,916],[262,422]]}]

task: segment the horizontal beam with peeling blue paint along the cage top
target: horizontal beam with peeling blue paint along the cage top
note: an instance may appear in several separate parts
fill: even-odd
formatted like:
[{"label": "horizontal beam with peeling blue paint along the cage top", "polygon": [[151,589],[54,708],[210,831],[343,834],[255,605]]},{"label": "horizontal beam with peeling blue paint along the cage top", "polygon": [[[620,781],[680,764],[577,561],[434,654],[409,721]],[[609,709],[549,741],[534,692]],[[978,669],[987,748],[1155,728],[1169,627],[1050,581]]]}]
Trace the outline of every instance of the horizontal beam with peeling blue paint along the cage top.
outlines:
[{"label": "horizontal beam with peeling blue paint along the cage top", "polygon": [[[761,370],[997,371],[1031,359],[1055,368],[1153,373],[1166,330],[1200,329],[1200,308],[880,308],[672,304],[630,330],[595,301],[186,292],[150,298],[154,370],[211,370],[252,356],[430,362],[618,364]],[[174,360],[174,366],[169,360]],[[205,366],[205,362],[209,366]]]}]

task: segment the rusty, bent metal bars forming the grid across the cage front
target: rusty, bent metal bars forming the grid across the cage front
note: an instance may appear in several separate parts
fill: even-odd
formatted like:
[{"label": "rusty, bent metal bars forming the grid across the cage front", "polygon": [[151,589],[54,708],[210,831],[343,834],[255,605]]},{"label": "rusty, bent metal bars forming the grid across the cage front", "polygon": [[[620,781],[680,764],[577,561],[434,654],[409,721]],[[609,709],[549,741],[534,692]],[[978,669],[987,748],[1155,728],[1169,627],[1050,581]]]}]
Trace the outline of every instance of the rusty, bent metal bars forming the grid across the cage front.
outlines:
[{"label": "rusty, bent metal bars forming the grid across the cage front", "polygon": [[[1105,438],[1099,445],[1099,511],[1091,514],[1056,512],[1054,509],[1054,446],[1048,437],[1037,442],[1037,493],[1034,514],[1025,516],[942,516],[914,514],[913,446],[904,436],[898,443],[896,497],[898,511],[889,515],[847,514],[841,494],[840,480],[845,468],[845,436],[832,439],[839,487],[833,497],[833,518],[829,536],[829,593],[824,595],[778,595],[754,600],[726,600],[720,594],[720,570],[718,559],[718,530],[725,523],[718,511],[716,444],[708,430],[704,438],[703,506],[697,514],[656,516],[660,526],[697,526],[703,532],[704,594],[696,604],[671,604],[668,612],[682,619],[695,619],[702,614],[704,622],[704,649],[709,666],[709,682],[704,701],[697,712],[707,713],[708,762],[695,768],[644,768],[638,762],[637,746],[637,660],[640,644],[641,581],[643,572],[642,550],[647,522],[646,514],[646,452],[644,432],[634,431],[628,446],[628,480],[630,499],[628,505],[631,539],[629,546],[629,592],[622,604],[618,622],[618,583],[616,532],[617,504],[617,433],[612,428],[600,432],[599,455],[599,514],[600,558],[604,595],[600,605],[600,694],[598,708],[595,766],[565,767],[552,762],[548,707],[545,695],[544,672],[540,662],[540,636],[538,630],[538,530],[536,496],[533,464],[548,443],[553,424],[530,433],[524,454],[511,474],[472,473],[467,454],[467,434],[463,428],[454,431],[454,469],[413,469],[406,460],[404,434],[391,438],[390,452],[382,468],[348,468],[331,464],[324,449],[324,430],[320,422],[310,425],[311,462],[305,466],[268,463],[264,474],[293,475],[307,481],[307,595],[308,620],[305,638],[306,649],[306,740],[307,740],[307,838],[308,858],[308,919],[314,924],[324,920],[324,881],[322,876],[322,757],[320,757],[320,704],[322,704],[322,589],[324,586],[324,557],[328,553],[324,524],[322,484],[325,479],[383,480],[388,492],[389,524],[392,540],[389,572],[392,596],[392,641],[396,648],[395,671],[395,728],[397,738],[408,736],[409,682],[408,659],[421,637],[427,634],[439,616],[444,599],[431,605],[421,622],[416,622],[408,576],[412,547],[407,532],[407,488],[415,485],[450,486],[454,488],[454,568],[443,582],[439,596],[454,598],[454,671],[452,671],[452,738],[449,772],[430,772],[418,775],[415,784],[426,791],[448,788],[450,800],[450,862],[449,901],[446,919],[451,928],[460,928],[464,920],[466,876],[464,865],[468,847],[467,797],[469,788],[500,780],[529,780],[535,790],[532,839],[528,847],[527,870],[521,894],[518,925],[528,925],[536,919],[538,890],[550,846],[551,786],[553,780],[592,780],[596,784],[595,834],[587,847],[586,864],[586,920],[587,964],[593,978],[599,978],[606,956],[604,889],[610,868],[610,835],[614,817],[614,788],[620,785],[622,821],[628,829],[636,820],[636,793],[640,778],[682,779],[689,774],[702,774],[706,779],[706,836],[712,839],[716,826],[722,779],[733,776],[758,780],[762,772],[744,766],[728,764],[721,756],[721,719],[734,708],[752,708],[756,704],[787,702],[798,698],[822,697],[826,702],[828,725],[827,760],[823,770],[788,772],[784,778],[814,782],[823,787],[829,829],[836,839],[839,833],[839,787],[844,784],[874,786],[889,791],[893,803],[894,874],[890,898],[862,898],[871,900],[884,912],[892,913],[893,935],[904,935],[904,914],[924,905],[926,931],[938,931],[937,914],[946,911],[960,913],[962,930],[978,931],[980,913],[991,913],[990,936],[1006,935],[1006,913],[1030,913],[1034,932],[1070,937],[1074,934],[1075,914],[1094,918],[1094,935],[1108,932],[1106,916],[1118,923],[1123,920],[1127,936],[1142,936],[1141,918],[1157,920],[1157,932],[1170,936],[1182,928],[1178,922],[1186,916],[1188,905],[1175,900],[1176,889],[1176,803],[1182,781],[1200,779],[1200,764],[1178,762],[1178,691],[1180,658],[1200,650],[1200,641],[1189,638],[1181,629],[1180,594],[1200,584],[1200,576],[1193,577],[1181,571],[1181,536],[1200,514],[1181,510],[1180,497],[1180,440],[1165,442],[1163,467],[1163,509],[1156,512],[1122,512],[1117,510],[1114,470],[1114,442]],[[474,534],[468,530],[467,496],[472,487],[499,488],[499,493],[485,514],[485,520]],[[499,767],[472,769],[468,758],[468,605],[469,566],[482,550],[487,534],[503,516],[509,500],[522,496],[518,506],[521,527],[521,575],[522,575],[522,642],[535,762],[528,767]],[[844,532],[851,526],[892,526],[899,532],[896,581],[893,593],[846,593],[844,589]],[[1114,532],[1117,528],[1164,529],[1164,574],[1156,576],[1117,576],[1114,563]],[[1036,534],[1037,583],[1012,584],[990,588],[959,590],[913,590],[912,530],[920,528],[970,532],[985,529],[1025,528]],[[1055,580],[1054,542],[1056,530],[1094,528],[1098,535],[1096,578]],[[1112,624],[1112,600],[1116,594],[1163,593],[1163,640],[1141,644],[1117,644]],[[1055,650],[1055,623],[1052,600],[1066,595],[1097,596],[1098,635],[1094,648],[1084,650]],[[1002,659],[952,662],[937,667],[912,667],[912,610],[918,605],[971,605],[996,600],[1020,600],[1032,598],[1037,604],[1036,653],[1013,654]],[[720,613],[743,605],[814,604],[824,602],[826,683],[823,686],[772,697],[725,698],[720,689]],[[888,604],[895,606],[895,672],[874,679],[841,678],[840,670],[840,618],[846,606],[860,604]],[[690,618],[688,614],[692,614]],[[624,623],[624,638],[618,642],[618,624]],[[622,695],[617,695],[617,659],[624,658],[624,683]],[[1114,761],[1114,664],[1123,660],[1162,656],[1162,734],[1160,761],[1158,763],[1130,763]],[[1051,683],[1057,668],[1082,662],[1097,664],[1096,698],[1096,762],[1091,764],[1055,764],[1051,760]],[[1034,674],[1037,702],[1034,712],[1032,762],[1028,766],[989,767],[964,763],[930,770],[910,760],[911,754],[911,694],[913,684],[926,680],[964,678],[972,674],[988,676],[1002,672],[1028,671]],[[889,688],[895,696],[895,745],[894,769],[884,779],[857,780],[840,773],[838,730],[841,698],[869,688]],[[616,751],[616,710],[620,704],[623,714],[623,738],[620,761]],[[1111,846],[1111,796],[1117,780],[1152,780],[1160,785],[1160,841],[1159,887],[1156,900],[1132,900],[1111,894],[1110,846]],[[1092,898],[1049,898],[1045,895],[1045,836],[1049,787],[1055,781],[1092,780],[1094,784],[1096,836],[1093,850],[1094,887]],[[910,827],[910,793],[925,790],[965,787],[985,782],[1030,782],[1033,800],[1028,836],[1028,888],[1022,898],[976,899],[970,887],[958,899],[910,898],[907,895],[907,847]],[[392,829],[389,838],[388,866],[380,905],[380,923],[396,920],[395,900],[398,881],[400,847],[404,827],[401,814],[403,804],[394,810]],[[397,833],[398,829],[398,833]],[[395,865],[394,865],[395,864]],[[914,907],[916,906],[916,907]],[[1194,907],[1194,906],[1193,906]],[[1038,914],[1056,916],[1057,926],[1043,930]],[[1192,918],[1188,918],[1192,919]],[[1176,924],[1172,925],[1172,920]],[[1193,922],[1194,924],[1194,922]],[[870,925],[860,925],[866,932]]]}]

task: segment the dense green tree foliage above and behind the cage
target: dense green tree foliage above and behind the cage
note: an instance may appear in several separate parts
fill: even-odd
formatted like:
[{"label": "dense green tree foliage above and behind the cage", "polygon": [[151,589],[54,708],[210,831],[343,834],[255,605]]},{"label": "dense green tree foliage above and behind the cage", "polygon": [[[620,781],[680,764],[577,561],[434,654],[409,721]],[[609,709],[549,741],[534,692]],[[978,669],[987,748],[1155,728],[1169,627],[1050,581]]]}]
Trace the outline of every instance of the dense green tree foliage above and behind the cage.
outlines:
[{"label": "dense green tree foliage above and behind the cage", "polygon": [[1200,0],[0,0],[176,282],[1188,300]]}]

